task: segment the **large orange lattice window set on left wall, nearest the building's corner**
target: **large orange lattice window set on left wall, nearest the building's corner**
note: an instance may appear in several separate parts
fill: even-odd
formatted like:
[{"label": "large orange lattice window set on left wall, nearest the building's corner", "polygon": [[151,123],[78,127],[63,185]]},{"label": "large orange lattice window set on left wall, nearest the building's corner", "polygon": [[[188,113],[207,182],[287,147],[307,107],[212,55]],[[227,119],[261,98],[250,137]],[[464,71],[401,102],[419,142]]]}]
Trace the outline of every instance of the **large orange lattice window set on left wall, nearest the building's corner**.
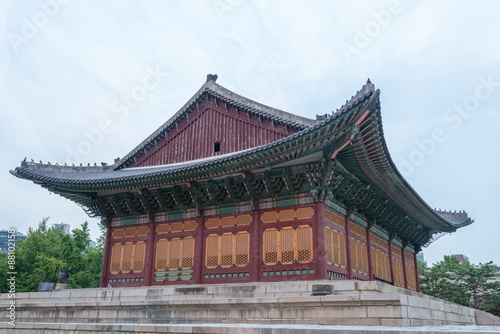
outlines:
[{"label": "large orange lattice window set on left wall, nearest the building's corner", "polygon": [[309,263],[312,254],[312,228],[308,225],[264,231],[263,260],[266,265]]}]

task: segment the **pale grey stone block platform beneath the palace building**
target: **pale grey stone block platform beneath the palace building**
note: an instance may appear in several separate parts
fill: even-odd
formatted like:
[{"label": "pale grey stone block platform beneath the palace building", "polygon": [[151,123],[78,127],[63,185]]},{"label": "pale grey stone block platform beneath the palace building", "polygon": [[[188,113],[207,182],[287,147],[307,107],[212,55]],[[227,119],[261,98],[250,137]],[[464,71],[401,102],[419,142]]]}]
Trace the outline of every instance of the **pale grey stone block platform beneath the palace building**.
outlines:
[{"label": "pale grey stone block platform beneath the palace building", "polygon": [[[2,295],[0,307],[5,309],[7,303],[7,295]],[[468,325],[458,327],[464,333],[472,329],[469,326],[494,324],[494,318],[478,322],[484,319],[483,313],[477,317],[474,309],[379,282],[175,285],[19,293],[17,326],[2,323],[0,332],[313,334],[327,329],[330,333],[382,333],[389,328],[403,333],[400,330],[405,327],[418,333],[415,326]],[[338,326],[372,327],[346,331]],[[500,326],[481,328],[485,333],[500,333]]]}]

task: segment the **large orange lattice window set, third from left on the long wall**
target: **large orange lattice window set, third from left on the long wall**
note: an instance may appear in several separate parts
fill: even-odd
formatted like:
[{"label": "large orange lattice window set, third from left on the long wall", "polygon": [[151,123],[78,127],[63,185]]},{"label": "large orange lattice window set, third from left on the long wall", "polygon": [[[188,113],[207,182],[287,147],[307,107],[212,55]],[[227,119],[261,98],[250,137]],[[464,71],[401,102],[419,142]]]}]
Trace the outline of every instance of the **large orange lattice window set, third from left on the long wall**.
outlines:
[{"label": "large orange lattice window set, third from left on the long wall", "polygon": [[250,234],[247,231],[210,234],[205,253],[205,266],[209,269],[245,267],[250,259]]}]

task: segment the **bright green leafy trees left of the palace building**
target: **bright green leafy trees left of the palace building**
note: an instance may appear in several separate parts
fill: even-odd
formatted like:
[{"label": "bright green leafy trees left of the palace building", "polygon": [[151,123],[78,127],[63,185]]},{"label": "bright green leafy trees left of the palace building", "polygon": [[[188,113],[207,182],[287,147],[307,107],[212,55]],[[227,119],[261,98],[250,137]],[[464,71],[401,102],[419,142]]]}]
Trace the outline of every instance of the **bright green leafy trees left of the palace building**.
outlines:
[{"label": "bright green leafy trees left of the palace building", "polygon": [[[37,291],[40,282],[57,282],[61,269],[68,269],[71,288],[98,287],[101,279],[103,242],[90,247],[90,231],[85,222],[71,231],[72,236],[47,226],[42,219],[36,230],[30,228],[26,240],[16,249],[16,291]],[[101,228],[101,233],[105,230]],[[100,239],[105,238],[101,236]],[[5,270],[4,270],[5,269]],[[7,292],[7,257],[0,257],[0,291]],[[5,276],[5,277],[4,277]]]}]

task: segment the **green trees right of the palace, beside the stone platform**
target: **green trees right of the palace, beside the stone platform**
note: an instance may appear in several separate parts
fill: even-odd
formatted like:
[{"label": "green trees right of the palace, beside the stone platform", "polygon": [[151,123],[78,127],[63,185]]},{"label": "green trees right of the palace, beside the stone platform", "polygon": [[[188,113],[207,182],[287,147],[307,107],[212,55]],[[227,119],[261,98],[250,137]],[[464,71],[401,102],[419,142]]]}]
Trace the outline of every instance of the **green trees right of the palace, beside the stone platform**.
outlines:
[{"label": "green trees right of the palace, beside the stone platform", "polygon": [[500,267],[493,262],[460,263],[454,256],[445,256],[432,267],[419,262],[420,290],[437,298],[500,315],[500,282],[493,279],[499,270]]}]

